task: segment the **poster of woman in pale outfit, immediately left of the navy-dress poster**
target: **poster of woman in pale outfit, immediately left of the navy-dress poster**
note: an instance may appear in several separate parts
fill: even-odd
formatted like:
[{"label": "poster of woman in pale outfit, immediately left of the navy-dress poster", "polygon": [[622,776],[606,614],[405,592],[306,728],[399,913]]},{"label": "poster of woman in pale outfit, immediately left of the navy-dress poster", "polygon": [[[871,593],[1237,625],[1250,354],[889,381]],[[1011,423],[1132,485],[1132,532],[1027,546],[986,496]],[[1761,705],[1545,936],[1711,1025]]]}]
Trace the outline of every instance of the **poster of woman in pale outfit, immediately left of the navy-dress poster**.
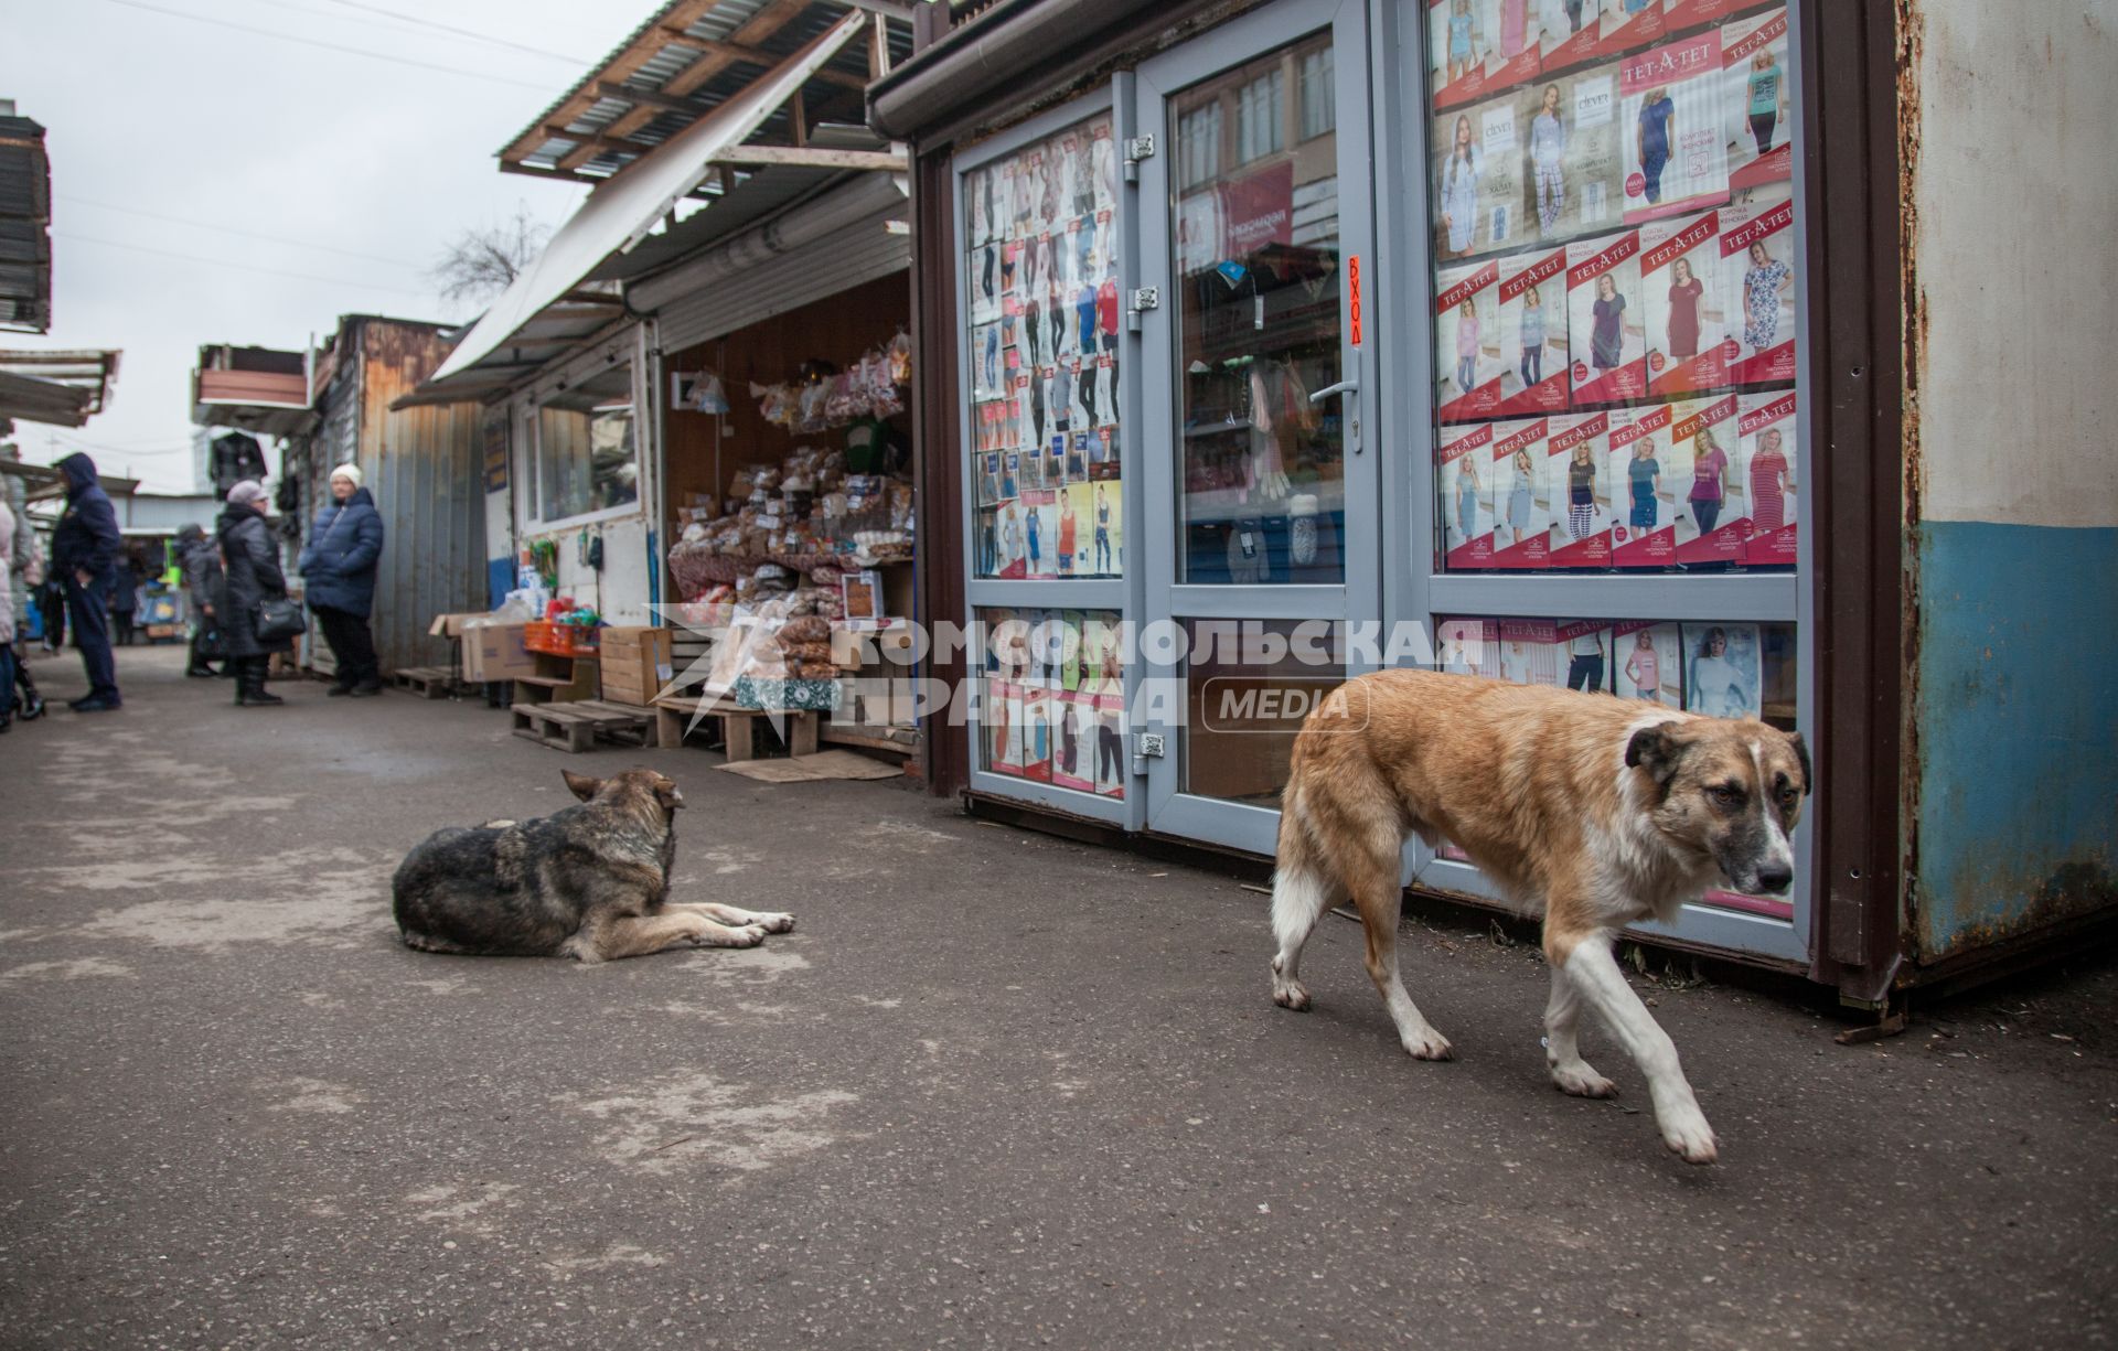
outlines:
[{"label": "poster of woman in pale outfit, immediately left of the navy-dress poster", "polygon": [[[1527,212],[1540,239],[1614,229],[1625,163],[1618,152],[1618,68],[1542,76],[1516,91]],[[1527,233],[1527,224],[1525,224]]]}]

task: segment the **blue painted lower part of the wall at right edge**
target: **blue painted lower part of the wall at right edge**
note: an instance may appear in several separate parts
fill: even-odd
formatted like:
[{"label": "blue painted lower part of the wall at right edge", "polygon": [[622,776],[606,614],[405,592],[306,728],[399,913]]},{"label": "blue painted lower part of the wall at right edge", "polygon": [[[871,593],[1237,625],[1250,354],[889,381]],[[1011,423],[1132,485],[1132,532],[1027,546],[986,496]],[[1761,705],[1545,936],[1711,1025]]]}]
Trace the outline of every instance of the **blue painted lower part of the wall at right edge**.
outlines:
[{"label": "blue painted lower part of the wall at right edge", "polygon": [[1923,521],[1923,959],[2118,904],[2118,529]]}]

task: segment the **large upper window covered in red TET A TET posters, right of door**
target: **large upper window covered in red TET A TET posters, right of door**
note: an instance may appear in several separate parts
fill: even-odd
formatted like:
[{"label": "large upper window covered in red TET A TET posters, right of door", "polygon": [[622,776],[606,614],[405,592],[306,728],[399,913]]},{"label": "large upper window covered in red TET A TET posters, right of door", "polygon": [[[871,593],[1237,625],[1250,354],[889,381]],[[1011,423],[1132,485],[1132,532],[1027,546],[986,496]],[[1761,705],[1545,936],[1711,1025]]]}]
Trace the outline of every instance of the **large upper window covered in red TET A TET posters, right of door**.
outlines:
[{"label": "large upper window covered in red TET A TET posters, right of door", "polygon": [[1438,570],[1792,570],[1788,11],[1451,0],[1428,51]]}]

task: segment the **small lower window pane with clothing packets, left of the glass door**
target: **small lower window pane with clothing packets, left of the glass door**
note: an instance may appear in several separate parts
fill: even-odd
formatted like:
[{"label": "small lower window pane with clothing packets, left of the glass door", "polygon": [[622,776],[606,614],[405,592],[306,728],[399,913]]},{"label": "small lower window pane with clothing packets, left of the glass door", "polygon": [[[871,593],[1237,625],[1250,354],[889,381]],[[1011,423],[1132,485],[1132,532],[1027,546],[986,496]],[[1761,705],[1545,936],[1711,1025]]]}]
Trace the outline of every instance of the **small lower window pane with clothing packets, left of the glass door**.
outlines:
[{"label": "small lower window pane with clothing packets, left of the glass door", "polygon": [[979,610],[979,762],[987,773],[1123,798],[1125,631],[1116,610]]}]

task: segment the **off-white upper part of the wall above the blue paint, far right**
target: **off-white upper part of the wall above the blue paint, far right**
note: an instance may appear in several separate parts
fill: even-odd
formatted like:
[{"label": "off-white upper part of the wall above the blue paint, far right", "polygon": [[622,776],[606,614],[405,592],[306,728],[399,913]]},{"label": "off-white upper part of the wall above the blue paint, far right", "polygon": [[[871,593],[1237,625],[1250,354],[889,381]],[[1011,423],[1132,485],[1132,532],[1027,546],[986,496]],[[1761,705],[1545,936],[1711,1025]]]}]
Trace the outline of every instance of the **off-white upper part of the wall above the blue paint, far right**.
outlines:
[{"label": "off-white upper part of the wall above the blue paint, far right", "polygon": [[2118,525],[2118,0],[1910,13],[1923,515]]}]

